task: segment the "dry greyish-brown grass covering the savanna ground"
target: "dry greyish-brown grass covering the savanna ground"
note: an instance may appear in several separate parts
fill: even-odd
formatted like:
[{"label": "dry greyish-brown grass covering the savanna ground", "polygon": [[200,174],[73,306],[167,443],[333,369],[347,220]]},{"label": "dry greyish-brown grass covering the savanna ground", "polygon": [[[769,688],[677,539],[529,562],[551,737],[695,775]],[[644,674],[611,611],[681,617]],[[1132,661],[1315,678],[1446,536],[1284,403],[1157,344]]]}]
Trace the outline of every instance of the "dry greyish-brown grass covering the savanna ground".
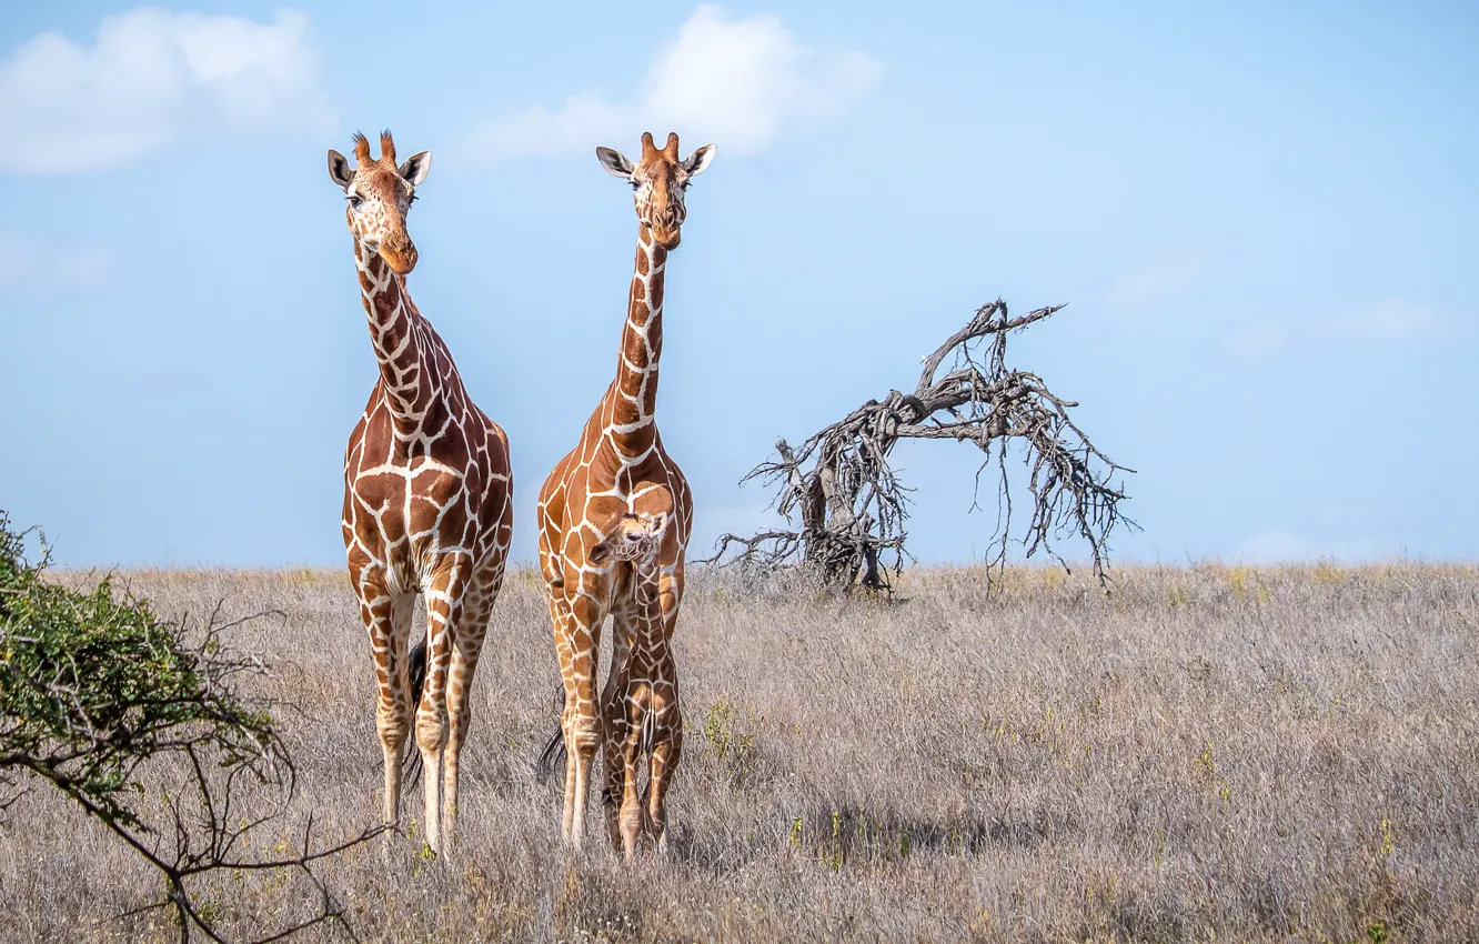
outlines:
[{"label": "dry greyish-brown grass covering the savanna ground", "polygon": [[[568,855],[534,780],[558,687],[532,574],[479,670],[461,843],[328,877],[365,941],[1479,940],[1479,570],[1133,570],[1105,599],[917,571],[896,604],[701,577],[667,860]],[[376,817],[373,681],[330,571],[136,573],[161,610],[263,608],[300,792],[281,839]],[[419,806],[410,798],[408,811]],[[592,798],[595,802],[595,798]],[[599,826],[599,814],[598,814]],[[0,829],[0,937],[166,941],[157,880],[40,795]],[[232,937],[311,907],[222,879]]]}]

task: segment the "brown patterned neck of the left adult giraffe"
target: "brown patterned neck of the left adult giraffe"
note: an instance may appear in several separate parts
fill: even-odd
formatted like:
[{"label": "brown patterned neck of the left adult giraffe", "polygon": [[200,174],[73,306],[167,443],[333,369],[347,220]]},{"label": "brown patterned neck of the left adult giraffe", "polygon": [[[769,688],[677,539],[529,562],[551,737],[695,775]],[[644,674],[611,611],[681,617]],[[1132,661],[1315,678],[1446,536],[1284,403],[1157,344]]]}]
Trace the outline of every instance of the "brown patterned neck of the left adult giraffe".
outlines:
[{"label": "brown patterned neck of the left adult giraffe", "polygon": [[359,294],[370,320],[370,343],[380,361],[386,404],[396,420],[417,423],[426,413],[435,370],[429,370],[417,330],[420,315],[405,291],[405,277],[395,274],[379,252],[355,237]]}]

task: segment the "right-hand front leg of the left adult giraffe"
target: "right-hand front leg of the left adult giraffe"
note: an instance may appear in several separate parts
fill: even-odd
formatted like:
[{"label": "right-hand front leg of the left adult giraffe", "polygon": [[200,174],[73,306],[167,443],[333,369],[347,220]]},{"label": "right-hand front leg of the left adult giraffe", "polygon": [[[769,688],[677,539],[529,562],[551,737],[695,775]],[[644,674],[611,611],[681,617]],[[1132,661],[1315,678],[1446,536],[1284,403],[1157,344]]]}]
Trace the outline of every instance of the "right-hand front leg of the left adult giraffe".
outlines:
[{"label": "right-hand front leg of the left adult giraffe", "polygon": [[422,750],[426,784],[426,845],[441,852],[444,758],[447,749],[447,682],[457,627],[463,618],[463,593],[472,576],[467,555],[447,558],[426,587],[426,681],[416,712],[416,746]]}]

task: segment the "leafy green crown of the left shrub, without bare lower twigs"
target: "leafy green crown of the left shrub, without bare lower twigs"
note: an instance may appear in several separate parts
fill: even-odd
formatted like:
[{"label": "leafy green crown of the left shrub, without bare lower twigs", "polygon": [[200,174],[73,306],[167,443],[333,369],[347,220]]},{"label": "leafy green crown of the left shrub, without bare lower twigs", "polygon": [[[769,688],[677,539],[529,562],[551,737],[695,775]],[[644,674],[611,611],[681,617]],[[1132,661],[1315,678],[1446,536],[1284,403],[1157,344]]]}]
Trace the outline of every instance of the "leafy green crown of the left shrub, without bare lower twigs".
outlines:
[{"label": "leafy green crown of the left shrub, without bare lower twigs", "polygon": [[275,775],[272,718],[231,685],[256,666],[225,654],[214,620],[189,647],[111,580],[49,581],[46,552],[28,562],[9,524],[0,512],[0,769],[30,769],[121,826],[141,826],[133,774],[163,753]]}]

